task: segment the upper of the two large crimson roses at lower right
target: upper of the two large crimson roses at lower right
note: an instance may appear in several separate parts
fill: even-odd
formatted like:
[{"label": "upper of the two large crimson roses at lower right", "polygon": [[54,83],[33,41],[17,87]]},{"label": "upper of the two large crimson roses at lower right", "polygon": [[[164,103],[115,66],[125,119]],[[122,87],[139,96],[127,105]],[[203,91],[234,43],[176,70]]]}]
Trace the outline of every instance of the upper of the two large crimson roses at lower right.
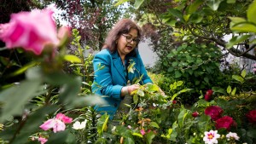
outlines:
[{"label": "upper of the two large crimson roses at lower right", "polygon": [[221,118],[222,112],[222,108],[218,106],[207,107],[205,110],[206,115],[210,116],[214,121]]}]

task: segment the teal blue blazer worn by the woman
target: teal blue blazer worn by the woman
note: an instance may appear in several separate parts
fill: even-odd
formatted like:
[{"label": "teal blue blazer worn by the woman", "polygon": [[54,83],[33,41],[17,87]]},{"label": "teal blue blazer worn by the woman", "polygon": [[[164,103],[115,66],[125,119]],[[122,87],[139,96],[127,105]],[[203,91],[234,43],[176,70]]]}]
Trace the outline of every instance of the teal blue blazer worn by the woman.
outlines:
[{"label": "teal blue blazer worn by the woman", "polygon": [[[133,66],[134,72],[127,72],[125,67],[133,62],[135,63]],[[123,65],[117,51],[111,53],[108,49],[103,49],[97,53],[93,60],[95,76],[92,92],[102,96],[108,102],[106,105],[97,105],[95,109],[102,114],[107,112],[110,115],[110,119],[113,118],[120,101],[122,101],[121,89],[127,85],[128,80],[132,82],[134,79],[140,78],[143,75],[140,84],[152,83],[138,51],[134,57],[126,56],[125,63],[126,66]],[[100,69],[101,66],[104,67]]]}]

